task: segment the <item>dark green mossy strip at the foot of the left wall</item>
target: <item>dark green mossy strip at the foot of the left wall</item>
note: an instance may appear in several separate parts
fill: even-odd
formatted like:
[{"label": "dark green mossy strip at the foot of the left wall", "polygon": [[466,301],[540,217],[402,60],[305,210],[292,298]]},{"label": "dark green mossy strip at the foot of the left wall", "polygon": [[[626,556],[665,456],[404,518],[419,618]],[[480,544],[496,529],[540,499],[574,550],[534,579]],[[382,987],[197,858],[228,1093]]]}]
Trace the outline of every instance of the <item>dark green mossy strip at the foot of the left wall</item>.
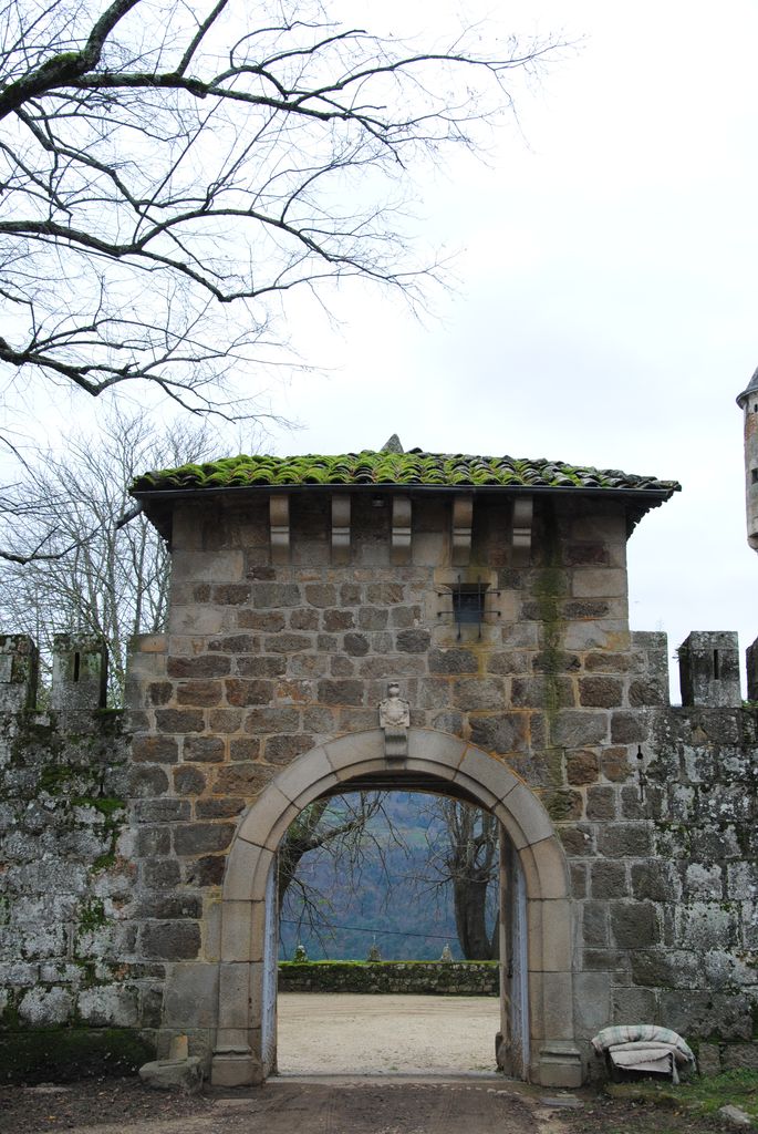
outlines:
[{"label": "dark green mossy strip at the foot of the left wall", "polygon": [[126,1027],[57,1027],[0,1034],[0,1082],[65,1083],[92,1075],[134,1074],[154,1047]]}]

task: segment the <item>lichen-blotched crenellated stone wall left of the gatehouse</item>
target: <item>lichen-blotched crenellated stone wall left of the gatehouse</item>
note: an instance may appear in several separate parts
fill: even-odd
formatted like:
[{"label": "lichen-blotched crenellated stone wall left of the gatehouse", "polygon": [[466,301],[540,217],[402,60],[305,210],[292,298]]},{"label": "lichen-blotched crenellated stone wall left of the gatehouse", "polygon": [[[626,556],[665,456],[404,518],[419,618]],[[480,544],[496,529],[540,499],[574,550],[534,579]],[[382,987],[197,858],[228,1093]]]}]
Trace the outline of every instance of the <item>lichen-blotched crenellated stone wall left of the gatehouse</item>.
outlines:
[{"label": "lichen-blotched crenellated stone wall left of the gatehouse", "polygon": [[[137,959],[135,871],[121,839],[131,790],[124,713],[96,708],[101,646],[70,646],[57,643],[57,708],[39,711],[35,648],[0,638],[0,1077],[19,1064],[33,1072],[37,1056],[48,1070],[67,1051],[86,1063],[94,1032],[108,1032],[114,1060],[130,1051],[131,1066],[161,1017],[163,970]],[[135,1048],[118,1030],[137,1027],[145,1044]]]}]

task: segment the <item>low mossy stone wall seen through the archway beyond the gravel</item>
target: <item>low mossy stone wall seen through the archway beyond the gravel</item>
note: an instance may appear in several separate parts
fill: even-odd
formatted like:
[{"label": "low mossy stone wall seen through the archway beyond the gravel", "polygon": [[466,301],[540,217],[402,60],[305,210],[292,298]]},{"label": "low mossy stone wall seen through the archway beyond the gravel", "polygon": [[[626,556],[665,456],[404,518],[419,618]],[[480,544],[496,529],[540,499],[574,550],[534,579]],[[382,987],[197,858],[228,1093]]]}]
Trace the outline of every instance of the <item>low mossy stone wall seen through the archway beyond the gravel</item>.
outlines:
[{"label": "low mossy stone wall seen through the archway beyond the gravel", "polygon": [[279,991],[497,996],[500,972],[496,960],[284,960]]}]

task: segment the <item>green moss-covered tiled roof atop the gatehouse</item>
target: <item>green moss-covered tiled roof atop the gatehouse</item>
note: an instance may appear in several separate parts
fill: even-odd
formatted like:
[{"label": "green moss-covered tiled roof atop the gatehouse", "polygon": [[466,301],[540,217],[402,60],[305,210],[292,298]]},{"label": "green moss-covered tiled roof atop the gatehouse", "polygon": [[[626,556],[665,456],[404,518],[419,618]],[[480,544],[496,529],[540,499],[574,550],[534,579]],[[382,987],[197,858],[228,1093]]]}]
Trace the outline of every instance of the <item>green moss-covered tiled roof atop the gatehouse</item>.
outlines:
[{"label": "green moss-covered tiled roof atop the gatehouse", "polygon": [[239,456],[182,465],[138,476],[135,496],[237,488],[305,485],[440,488],[610,489],[671,496],[676,481],[636,476],[618,468],[590,468],[562,460],[474,457],[465,454],[348,452],[342,456]]}]

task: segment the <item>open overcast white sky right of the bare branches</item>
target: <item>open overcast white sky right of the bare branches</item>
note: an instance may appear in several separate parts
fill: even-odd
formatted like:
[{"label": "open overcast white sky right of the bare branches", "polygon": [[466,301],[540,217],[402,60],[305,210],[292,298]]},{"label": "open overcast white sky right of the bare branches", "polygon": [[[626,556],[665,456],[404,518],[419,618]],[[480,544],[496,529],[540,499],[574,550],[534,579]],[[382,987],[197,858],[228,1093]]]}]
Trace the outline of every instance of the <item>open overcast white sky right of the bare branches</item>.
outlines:
[{"label": "open overcast white sky right of the bare branches", "polygon": [[[471,5],[468,6],[469,8]],[[438,5],[411,6],[414,16]],[[630,542],[633,628],[758,634],[736,395],[758,365],[758,6],[533,0],[514,31],[577,43],[518,87],[489,168],[428,177],[426,238],[457,251],[423,324],[342,294],[299,345],[327,378],[278,405],[275,451],[406,448],[653,473],[683,491]],[[402,17],[385,10],[390,29]]]}]

